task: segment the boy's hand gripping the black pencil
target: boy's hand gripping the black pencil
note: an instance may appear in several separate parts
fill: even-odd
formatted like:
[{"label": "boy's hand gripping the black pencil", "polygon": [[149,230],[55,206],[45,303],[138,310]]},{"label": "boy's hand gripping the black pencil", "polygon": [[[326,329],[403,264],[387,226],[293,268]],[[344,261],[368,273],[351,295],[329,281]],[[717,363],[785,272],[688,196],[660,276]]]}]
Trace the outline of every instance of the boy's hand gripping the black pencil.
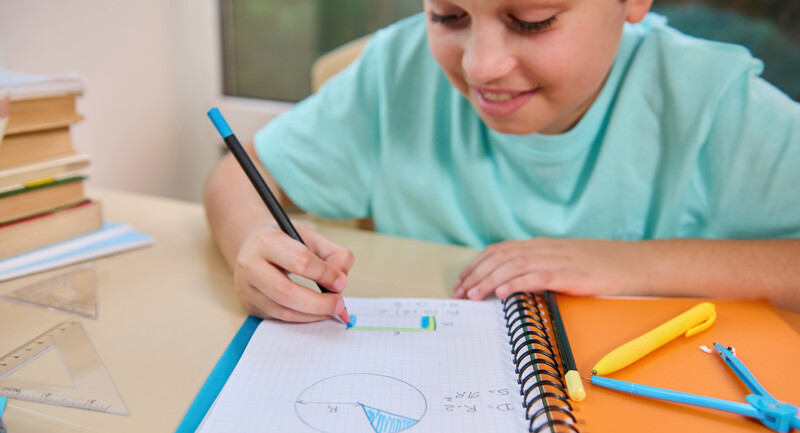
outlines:
[{"label": "boy's hand gripping the black pencil", "polygon": [[[233,280],[236,296],[247,311],[288,322],[329,319],[344,309],[341,293],[353,254],[317,231],[296,224],[306,245],[277,226],[250,233],[236,257]],[[293,282],[288,273],[317,282],[336,293],[318,293]]]}]

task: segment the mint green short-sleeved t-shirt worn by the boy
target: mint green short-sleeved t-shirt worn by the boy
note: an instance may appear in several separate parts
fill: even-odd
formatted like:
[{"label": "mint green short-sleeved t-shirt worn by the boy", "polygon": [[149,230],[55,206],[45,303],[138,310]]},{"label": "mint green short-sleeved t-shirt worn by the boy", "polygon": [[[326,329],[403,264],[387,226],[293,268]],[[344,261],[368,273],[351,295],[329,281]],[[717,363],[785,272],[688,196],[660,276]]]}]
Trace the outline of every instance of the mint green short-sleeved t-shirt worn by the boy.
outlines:
[{"label": "mint green short-sleeved t-shirt worn by the boy", "polygon": [[657,15],[626,25],[583,118],[559,135],[489,129],[450,84],[420,14],[256,134],[301,208],[482,248],[536,236],[800,237],[800,104],[742,47]]}]

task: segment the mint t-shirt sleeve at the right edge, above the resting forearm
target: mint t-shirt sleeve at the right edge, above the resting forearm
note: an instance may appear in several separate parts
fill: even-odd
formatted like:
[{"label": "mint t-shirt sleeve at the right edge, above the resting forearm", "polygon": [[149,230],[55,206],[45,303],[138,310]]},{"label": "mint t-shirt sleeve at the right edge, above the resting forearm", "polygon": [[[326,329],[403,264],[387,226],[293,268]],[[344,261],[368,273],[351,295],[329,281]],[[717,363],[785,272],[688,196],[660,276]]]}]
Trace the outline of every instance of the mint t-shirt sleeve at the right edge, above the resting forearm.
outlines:
[{"label": "mint t-shirt sleeve at the right edge, above the resting forearm", "polygon": [[800,104],[750,71],[719,100],[698,190],[714,237],[800,237]]}]

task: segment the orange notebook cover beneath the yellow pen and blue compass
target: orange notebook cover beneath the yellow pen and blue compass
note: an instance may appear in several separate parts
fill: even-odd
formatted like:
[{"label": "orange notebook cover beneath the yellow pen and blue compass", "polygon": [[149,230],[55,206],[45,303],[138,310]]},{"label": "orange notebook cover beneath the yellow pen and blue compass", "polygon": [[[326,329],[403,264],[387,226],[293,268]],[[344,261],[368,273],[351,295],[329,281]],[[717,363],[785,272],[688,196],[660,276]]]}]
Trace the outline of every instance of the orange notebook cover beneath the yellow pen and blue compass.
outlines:
[{"label": "orange notebook cover beneath the yellow pen and blue compass", "polygon": [[[612,349],[650,331],[702,299],[558,297],[567,336],[582,377]],[[644,385],[745,403],[749,389],[715,353],[714,342],[737,357],[778,400],[800,405],[800,334],[766,301],[708,300],[717,321],[693,337],[678,337],[639,361],[607,375]],[[758,420],[728,412],[612,391],[584,382],[586,399],[571,402],[582,433],[770,432]]]}]

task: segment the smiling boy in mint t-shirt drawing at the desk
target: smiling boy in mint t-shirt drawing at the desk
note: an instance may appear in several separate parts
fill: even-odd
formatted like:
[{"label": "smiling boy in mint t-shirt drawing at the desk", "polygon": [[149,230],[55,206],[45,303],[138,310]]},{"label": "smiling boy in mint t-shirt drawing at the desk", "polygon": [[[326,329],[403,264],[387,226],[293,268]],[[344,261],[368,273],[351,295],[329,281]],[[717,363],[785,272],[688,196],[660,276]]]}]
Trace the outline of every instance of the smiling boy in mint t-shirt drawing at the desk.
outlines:
[{"label": "smiling boy in mint t-shirt drawing at the desk", "polygon": [[[800,106],[651,0],[425,0],[255,137],[301,208],[485,248],[459,298],[768,298],[800,311]],[[627,24],[626,24],[627,23]],[[352,254],[285,236],[227,157],[209,223],[252,314],[341,312]],[[723,240],[728,239],[728,240]]]}]

